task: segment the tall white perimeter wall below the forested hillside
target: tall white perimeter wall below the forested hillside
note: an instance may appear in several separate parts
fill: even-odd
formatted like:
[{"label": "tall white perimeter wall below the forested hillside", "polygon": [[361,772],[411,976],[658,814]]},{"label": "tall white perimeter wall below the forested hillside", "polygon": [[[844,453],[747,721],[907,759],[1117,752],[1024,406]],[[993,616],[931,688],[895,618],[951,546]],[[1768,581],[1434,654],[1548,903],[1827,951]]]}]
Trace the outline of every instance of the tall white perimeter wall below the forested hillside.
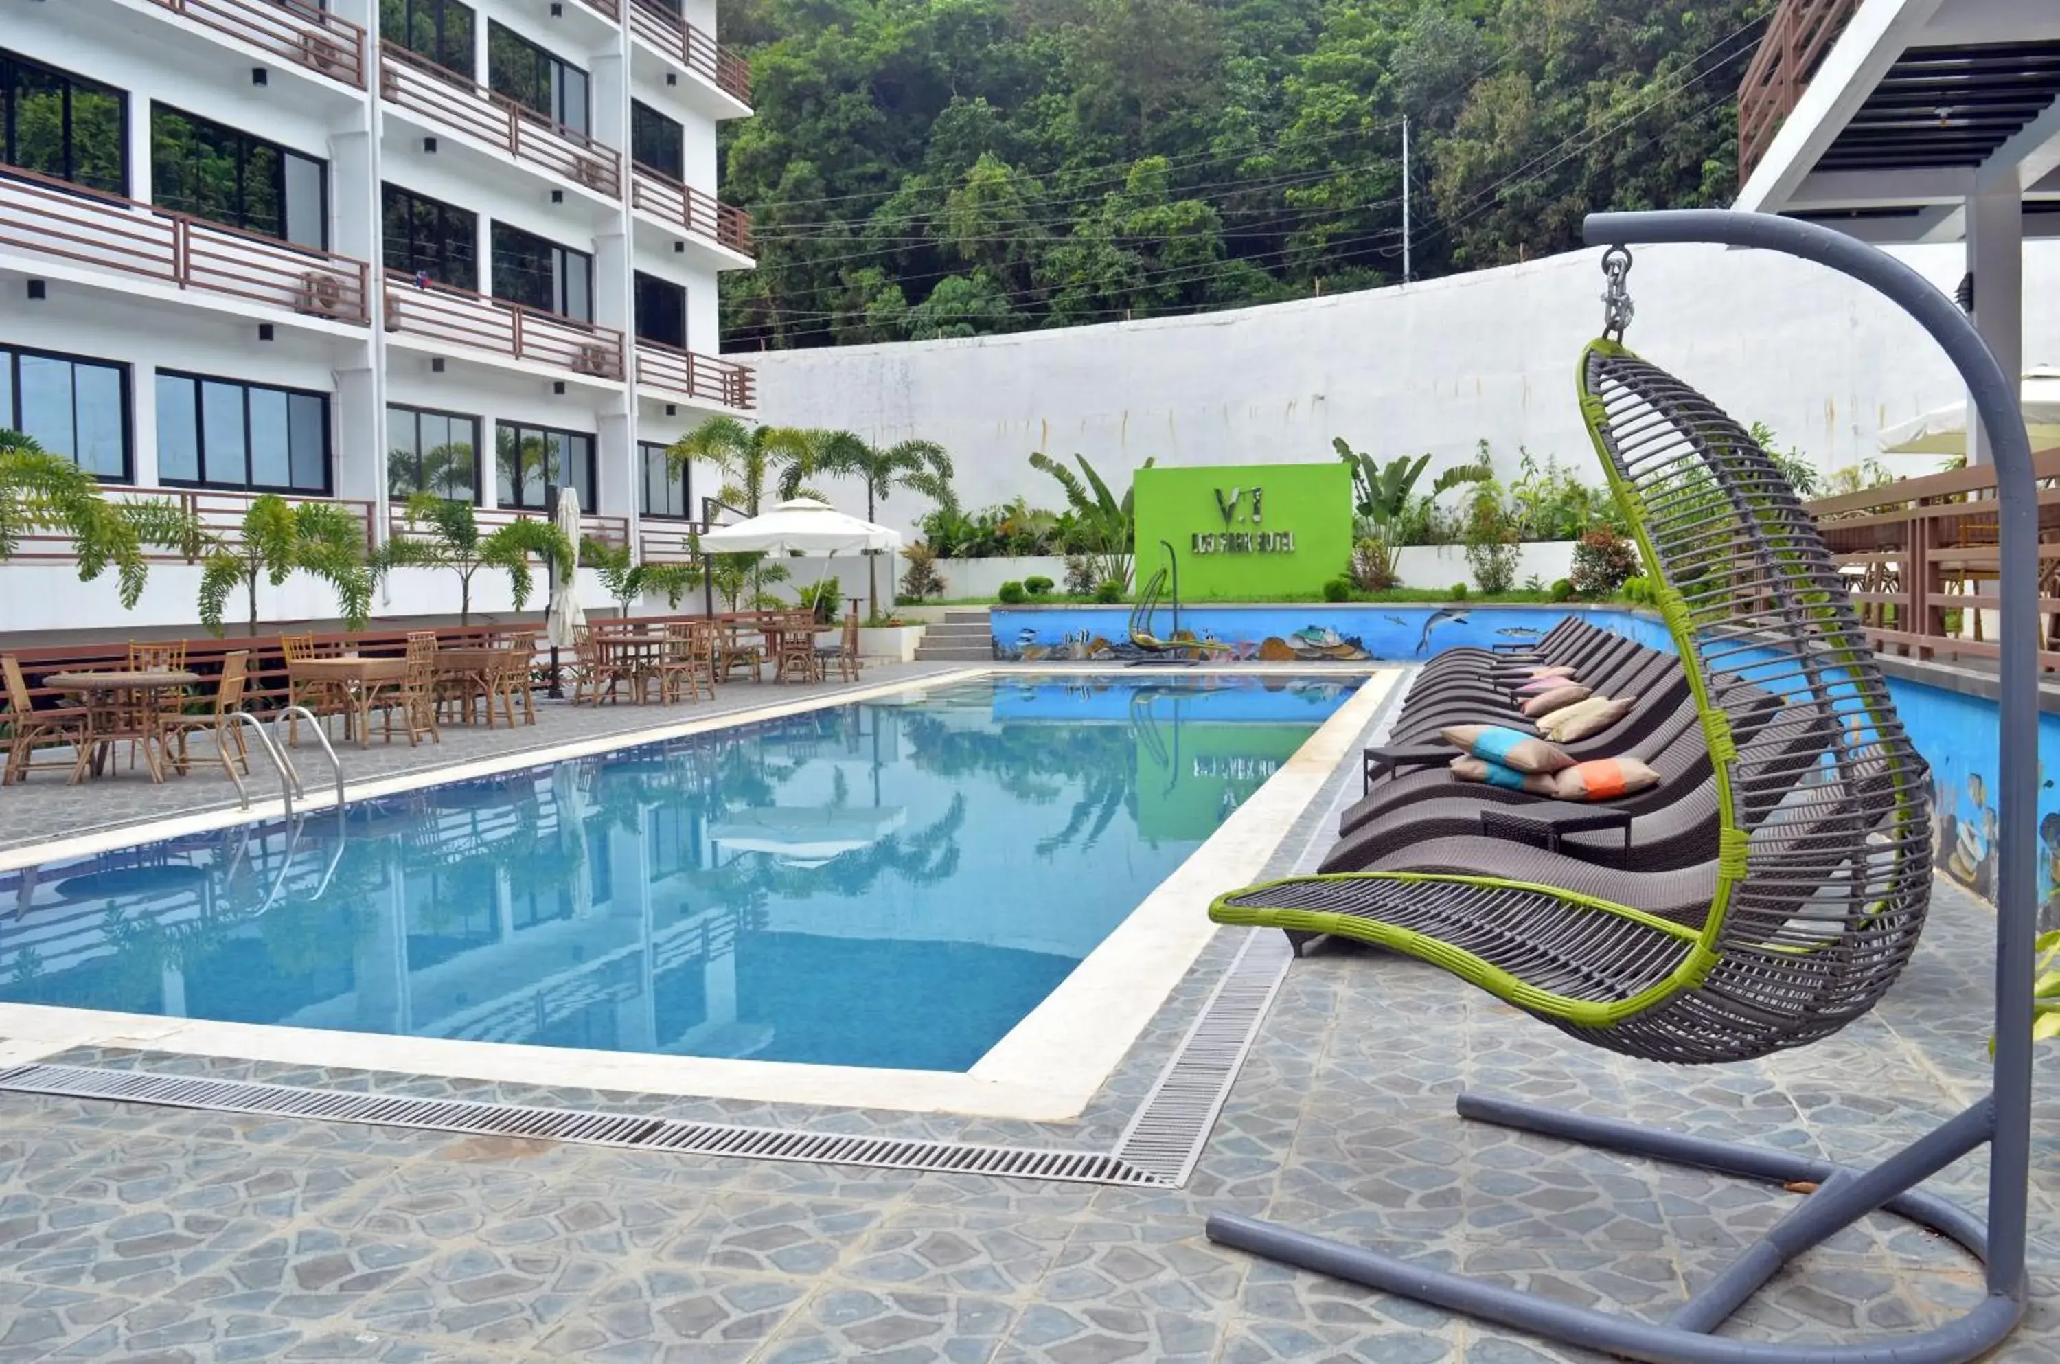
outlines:
[{"label": "tall white perimeter wall below the forested hillside", "polygon": [[[1957,245],[1901,255],[1951,291]],[[1599,251],[1399,288],[1203,317],[948,342],[750,352],[760,420],[927,437],[958,464],[968,507],[1018,492],[1061,503],[1034,449],[1104,476],[1162,464],[1331,459],[1331,437],[1434,468],[1494,445],[1557,455],[1601,482],[1574,402],[1574,365],[1601,321]],[[1718,247],[1644,247],[1627,342],[1763,420],[1831,470],[1875,455],[1883,424],[1963,398],[1936,346],[1873,293],[1802,262]],[[2025,245],[2025,363],[2060,363],[2060,243]],[[1924,474],[1936,457],[1891,457]],[[826,488],[863,511],[851,488]],[[880,519],[927,509],[902,492]]]}]

